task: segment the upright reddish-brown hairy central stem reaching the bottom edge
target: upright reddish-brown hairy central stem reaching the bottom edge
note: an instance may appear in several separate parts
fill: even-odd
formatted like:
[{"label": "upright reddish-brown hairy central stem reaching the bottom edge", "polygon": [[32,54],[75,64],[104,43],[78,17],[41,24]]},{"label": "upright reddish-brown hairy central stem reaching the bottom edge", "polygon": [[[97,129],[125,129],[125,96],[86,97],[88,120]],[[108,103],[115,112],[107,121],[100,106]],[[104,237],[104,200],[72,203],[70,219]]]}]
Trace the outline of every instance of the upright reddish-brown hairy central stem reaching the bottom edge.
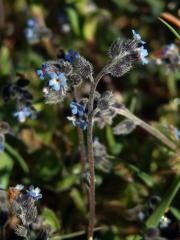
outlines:
[{"label": "upright reddish-brown hairy central stem reaching the bottom edge", "polygon": [[102,70],[94,80],[91,76],[91,89],[88,102],[88,127],[87,127],[87,146],[88,146],[88,161],[90,174],[89,187],[89,226],[88,240],[93,240],[94,222],[95,222],[95,172],[94,172],[94,152],[93,152],[93,104],[94,94],[99,80],[104,75]]}]

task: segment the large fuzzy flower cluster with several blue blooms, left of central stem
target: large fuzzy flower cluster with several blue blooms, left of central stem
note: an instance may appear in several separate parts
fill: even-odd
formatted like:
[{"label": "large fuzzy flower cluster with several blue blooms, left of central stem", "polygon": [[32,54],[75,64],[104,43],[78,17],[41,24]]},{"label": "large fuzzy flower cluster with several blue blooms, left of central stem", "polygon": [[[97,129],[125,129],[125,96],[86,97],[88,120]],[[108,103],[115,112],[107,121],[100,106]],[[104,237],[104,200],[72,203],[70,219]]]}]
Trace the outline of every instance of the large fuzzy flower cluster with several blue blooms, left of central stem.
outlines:
[{"label": "large fuzzy flower cluster with several blue blooms, left of central stem", "polygon": [[[39,78],[46,81],[43,93],[47,103],[62,101],[68,92],[81,84],[84,69],[91,70],[89,62],[82,59],[79,53],[72,49],[67,53],[60,50],[57,60],[48,61],[37,70]],[[86,71],[86,76],[87,74]]]}]

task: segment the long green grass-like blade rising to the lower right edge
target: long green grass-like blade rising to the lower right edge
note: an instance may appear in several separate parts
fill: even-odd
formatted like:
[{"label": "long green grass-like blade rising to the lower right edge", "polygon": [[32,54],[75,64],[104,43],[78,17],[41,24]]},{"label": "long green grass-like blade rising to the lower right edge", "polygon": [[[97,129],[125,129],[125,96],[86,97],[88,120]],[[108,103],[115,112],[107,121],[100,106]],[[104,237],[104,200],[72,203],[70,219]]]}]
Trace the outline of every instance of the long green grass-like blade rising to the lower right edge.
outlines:
[{"label": "long green grass-like blade rising to the lower right edge", "polygon": [[146,222],[146,226],[148,228],[158,226],[160,218],[164,215],[165,210],[170,206],[172,200],[174,199],[176,193],[179,190],[179,187],[180,187],[180,176],[176,176],[169,190],[163,197],[160,205],[148,218]]}]

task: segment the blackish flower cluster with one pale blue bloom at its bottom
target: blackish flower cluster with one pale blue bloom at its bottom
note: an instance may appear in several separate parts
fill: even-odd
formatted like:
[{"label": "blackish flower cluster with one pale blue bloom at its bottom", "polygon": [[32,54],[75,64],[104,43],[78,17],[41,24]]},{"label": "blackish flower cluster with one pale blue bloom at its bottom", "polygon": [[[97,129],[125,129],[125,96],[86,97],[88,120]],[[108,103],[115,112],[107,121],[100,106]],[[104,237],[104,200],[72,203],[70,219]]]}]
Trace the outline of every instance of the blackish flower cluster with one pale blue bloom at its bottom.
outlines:
[{"label": "blackish flower cluster with one pale blue bloom at its bottom", "polygon": [[13,114],[17,117],[19,122],[25,122],[26,118],[34,119],[36,117],[36,110],[32,105],[33,96],[26,89],[29,84],[24,75],[18,74],[19,79],[15,83],[7,84],[3,89],[3,100],[7,102],[10,97],[15,99],[17,111]]}]

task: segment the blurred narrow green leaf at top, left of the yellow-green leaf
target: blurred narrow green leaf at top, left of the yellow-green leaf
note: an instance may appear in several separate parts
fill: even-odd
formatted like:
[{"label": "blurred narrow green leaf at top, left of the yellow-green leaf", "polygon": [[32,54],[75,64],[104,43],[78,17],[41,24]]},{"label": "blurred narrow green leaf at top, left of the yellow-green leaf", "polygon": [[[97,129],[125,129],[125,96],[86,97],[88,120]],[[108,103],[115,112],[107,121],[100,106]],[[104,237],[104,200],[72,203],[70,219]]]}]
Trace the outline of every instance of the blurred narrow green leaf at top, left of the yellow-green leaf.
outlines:
[{"label": "blurred narrow green leaf at top, left of the yellow-green leaf", "polygon": [[79,17],[73,8],[66,8],[71,27],[76,35],[80,35]]}]

